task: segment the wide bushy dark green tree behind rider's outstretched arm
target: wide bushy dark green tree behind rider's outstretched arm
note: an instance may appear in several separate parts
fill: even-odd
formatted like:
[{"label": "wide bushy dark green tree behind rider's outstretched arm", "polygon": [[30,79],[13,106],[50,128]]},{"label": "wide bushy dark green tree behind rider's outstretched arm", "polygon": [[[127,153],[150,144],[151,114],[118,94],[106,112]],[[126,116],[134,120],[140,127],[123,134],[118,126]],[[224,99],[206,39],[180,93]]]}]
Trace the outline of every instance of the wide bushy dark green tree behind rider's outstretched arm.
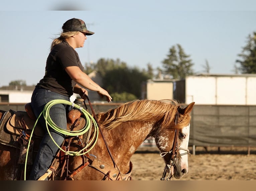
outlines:
[{"label": "wide bushy dark green tree behind rider's outstretched arm", "polygon": [[141,96],[141,84],[153,77],[153,68],[147,65],[147,70],[137,67],[129,68],[120,59],[101,58],[97,63],[85,65],[84,72],[89,74],[97,71],[102,77],[102,88],[106,89],[113,101],[129,101]]}]

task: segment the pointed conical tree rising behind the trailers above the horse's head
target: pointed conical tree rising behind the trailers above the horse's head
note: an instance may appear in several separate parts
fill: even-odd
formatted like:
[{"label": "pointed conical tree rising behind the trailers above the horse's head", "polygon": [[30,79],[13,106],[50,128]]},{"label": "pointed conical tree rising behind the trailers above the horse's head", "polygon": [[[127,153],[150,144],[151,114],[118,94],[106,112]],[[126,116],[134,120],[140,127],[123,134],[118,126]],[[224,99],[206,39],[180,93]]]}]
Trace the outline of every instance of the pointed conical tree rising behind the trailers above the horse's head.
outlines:
[{"label": "pointed conical tree rising behind the trailers above the horse's head", "polygon": [[177,44],[169,49],[167,58],[162,61],[164,72],[172,76],[173,79],[184,79],[187,75],[194,74],[193,63],[186,55],[183,48]]}]

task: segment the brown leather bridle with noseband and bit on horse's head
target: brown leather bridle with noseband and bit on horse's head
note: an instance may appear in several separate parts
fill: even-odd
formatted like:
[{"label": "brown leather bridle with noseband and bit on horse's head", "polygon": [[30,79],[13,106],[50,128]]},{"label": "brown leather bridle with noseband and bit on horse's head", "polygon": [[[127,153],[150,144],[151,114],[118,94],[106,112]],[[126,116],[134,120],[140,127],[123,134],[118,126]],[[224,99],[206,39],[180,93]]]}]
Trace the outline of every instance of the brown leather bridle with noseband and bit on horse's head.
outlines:
[{"label": "brown leather bridle with noseband and bit on horse's head", "polygon": [[[178,116],[179,116],[179,107],[177,109],[177,113],[176,113],[176,117],[175,117],[175,125],[177,124],[178,122]],[[175,166],[175,163],[176,163],[176,160],[177,160],[177,157],[178,157],[178,150],[185,150],[186,152],[185,153],[182,153],[182,154],[179,154],[179,156],[182,156],[182,155],[185,155],[185,154],[189,154],[189,150],[188,149],[185,149],[185,148],[179,148],[178,146],[178,136],[179,136],[179,129],[175,129],[175,137],[174,137],[174,141],[173,141],[173,144],[172,144],[172,148],[169,152],[161,152],[160,153],[160,156],[161,157],[164,157],[166,154],[170,154],[171,155],[171,159],[170,161],[165,165],[164,167],[164,170],[163,170],[163,175],[162,175],[162,178],[160,180],[170,180],[171,177],[173,176],[173,169],[174,169],[174,166]],[[166,173],[169,173],[168,176],[166,177]],[[165,178],[166,177],[166,178]]]}]

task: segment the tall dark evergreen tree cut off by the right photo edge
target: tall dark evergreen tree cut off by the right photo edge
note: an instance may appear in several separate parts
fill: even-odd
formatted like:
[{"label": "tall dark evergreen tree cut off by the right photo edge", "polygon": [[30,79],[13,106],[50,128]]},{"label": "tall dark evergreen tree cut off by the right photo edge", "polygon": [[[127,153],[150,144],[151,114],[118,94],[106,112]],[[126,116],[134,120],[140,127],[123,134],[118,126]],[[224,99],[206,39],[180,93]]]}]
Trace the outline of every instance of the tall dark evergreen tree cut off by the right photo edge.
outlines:
[{"label": "tall dark evergreen tree cut off by the right photo edge", "polygon": [[238,56],[242,58],[236,60],[236,63],[240,63],[239,71],[243,74],[256,74],[256,32],[249,34],[247,44]]}]

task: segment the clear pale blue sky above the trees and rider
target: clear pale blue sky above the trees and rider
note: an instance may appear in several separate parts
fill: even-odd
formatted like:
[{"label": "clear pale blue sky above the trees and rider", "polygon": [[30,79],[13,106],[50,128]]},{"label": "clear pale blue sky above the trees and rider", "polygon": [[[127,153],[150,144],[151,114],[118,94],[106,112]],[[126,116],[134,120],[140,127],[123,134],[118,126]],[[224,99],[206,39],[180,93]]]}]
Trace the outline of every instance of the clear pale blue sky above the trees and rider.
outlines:
[{"label": "clear pale blue sky above the trees and rider", "polygon": [[[73,10],[73,11],[56,11]],[[79,10],[79,11],[78,11]],[[4,1],[0,8],[0,87],[14,80],[36,84],[44,75],[52,38],[71,18],[95,32],[76,51],[82,64],[100,58],[128,66],[162,67],[180,44],[202,72],[232,74],[246,38],[256,31],[255,0]]]}]

